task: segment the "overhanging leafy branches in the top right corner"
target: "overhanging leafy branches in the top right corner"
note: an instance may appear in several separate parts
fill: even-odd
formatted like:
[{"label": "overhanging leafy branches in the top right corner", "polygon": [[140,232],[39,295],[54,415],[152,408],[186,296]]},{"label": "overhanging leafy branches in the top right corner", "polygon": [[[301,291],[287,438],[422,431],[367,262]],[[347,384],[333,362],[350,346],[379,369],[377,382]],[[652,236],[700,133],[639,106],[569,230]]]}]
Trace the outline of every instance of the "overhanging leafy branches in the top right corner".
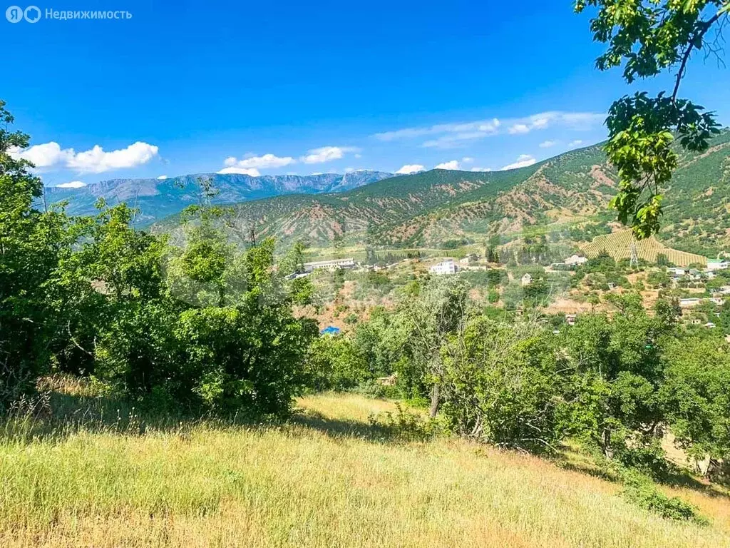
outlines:
[{"label": "overhanging leafy branches in the top right corner", "polygon": [[658,232],[662,193],[677,167],[675,137],[688,151],[704,151],[719,132],[715,115],[678,96],[688,61],[703,48],[716,52],[710,31],[728,20],[728,0],[577,0],[575,11],[596,7],[591,31],[607,50],[596,60],[599,70],[623,65],[632,83],[676,70],[667,93],[646,92],[615,101],[606,120],[606,151],[620,178],[611,206],[639,239]]}]

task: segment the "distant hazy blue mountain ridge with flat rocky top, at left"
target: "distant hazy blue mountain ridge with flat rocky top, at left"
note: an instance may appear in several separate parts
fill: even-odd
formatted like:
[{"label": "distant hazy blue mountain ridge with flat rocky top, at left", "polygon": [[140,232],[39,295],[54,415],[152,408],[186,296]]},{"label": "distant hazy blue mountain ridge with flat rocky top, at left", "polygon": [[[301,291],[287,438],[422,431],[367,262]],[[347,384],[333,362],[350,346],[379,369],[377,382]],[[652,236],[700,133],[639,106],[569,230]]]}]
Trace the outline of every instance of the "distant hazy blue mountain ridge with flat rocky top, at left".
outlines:
[{"label": "distant hazy blue mountain ridge with flat rocky top, at left", "polygon": [[392,173],[359,170],[340,175],[261,175],[252,177],[237,173],[203,173],[166,179],[110,179],[81,188],[47,187],[50,203],[68,200],[66,210],[72,215],[95,213],[94,204],[104,198],[110,205],[126,202],[139,209],[142,224],[180,213],[198,202],[197,179],[208,178],[218,190],[214,202],[219,204],[246,202],[285,194],[322,194],[343,192],[393,177]]}]

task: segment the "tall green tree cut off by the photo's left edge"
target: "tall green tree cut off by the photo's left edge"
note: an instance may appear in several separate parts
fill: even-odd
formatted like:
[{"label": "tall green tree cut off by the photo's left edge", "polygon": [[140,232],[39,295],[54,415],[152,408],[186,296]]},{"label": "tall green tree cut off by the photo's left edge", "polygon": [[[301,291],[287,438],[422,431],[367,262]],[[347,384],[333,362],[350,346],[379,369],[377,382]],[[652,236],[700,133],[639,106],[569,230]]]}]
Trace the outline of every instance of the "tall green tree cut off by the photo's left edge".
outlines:
[{"label": "tall green tree cut off by the photo's left edge", "polygon": [[[0,100],[0,408],[34,388],[50,369],[66,330],[55,304],[55,271],[71,252],[75,232],[63,210],[40,211],[39,178],[17,156],[29,137],[10,132],[12,115]],[[64,339],[64,340],[61,340]]]}]

